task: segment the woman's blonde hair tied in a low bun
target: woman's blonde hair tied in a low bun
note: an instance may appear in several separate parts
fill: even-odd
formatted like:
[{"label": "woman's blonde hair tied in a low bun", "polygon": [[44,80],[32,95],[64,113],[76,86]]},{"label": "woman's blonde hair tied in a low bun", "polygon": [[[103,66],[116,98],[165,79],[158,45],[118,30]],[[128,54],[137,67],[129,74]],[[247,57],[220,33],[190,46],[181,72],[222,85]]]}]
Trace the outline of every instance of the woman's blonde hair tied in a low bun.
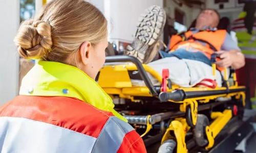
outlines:
[{"label": "woman's blonde hair tied in a low bun", "polygon": [[107,35],[103,14],[83,0],[54,0],[35,20],[24,21],[14,42],[26,59],[65,63],[84,41],[92,45]]}]

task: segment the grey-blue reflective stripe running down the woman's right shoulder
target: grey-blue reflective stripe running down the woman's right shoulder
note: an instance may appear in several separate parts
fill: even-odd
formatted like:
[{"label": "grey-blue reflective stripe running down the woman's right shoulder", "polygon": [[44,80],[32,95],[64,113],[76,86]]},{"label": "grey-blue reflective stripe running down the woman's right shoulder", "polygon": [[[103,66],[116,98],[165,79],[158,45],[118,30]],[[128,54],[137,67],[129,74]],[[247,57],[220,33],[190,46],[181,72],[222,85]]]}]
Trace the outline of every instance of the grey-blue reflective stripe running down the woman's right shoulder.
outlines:
[{"label": "grey-blue reflective stripe running down the woman's right shoulder", "polygon": [[110,117],[105,123],[92,152],[117,152],[124,136],[133,131],[133,127],[117,117]]}]

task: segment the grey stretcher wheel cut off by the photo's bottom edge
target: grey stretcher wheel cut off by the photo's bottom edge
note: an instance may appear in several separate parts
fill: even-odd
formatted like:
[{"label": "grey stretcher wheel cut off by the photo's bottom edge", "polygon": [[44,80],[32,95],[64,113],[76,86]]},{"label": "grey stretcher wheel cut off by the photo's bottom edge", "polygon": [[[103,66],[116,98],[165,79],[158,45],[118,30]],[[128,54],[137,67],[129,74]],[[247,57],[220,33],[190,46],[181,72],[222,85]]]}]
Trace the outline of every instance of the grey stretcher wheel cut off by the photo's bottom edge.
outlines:
[{"label": "grey stretcher wheel cut off by the photo's bottom edge", "polygon": [[176,152],[177,142],[173,139],[168,139],[160,145],[158,153],[173,153]]}]

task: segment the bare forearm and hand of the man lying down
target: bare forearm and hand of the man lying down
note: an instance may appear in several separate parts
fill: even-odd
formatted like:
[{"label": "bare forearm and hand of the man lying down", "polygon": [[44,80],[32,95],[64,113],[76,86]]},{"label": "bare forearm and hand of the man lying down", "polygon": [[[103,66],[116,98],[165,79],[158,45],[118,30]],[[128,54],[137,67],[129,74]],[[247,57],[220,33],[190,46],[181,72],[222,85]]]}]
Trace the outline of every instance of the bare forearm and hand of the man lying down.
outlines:
[{"label": "bare forearm and hand of the man lying down", "polygon": [[229,67],[231,66],[233,69],[239,69],[245,65],[245,57],[240,52],[240,50],[232,49],[227,51],[217,52],[220,54],[221,60],[216,62],[218,66],[221,67]]}]

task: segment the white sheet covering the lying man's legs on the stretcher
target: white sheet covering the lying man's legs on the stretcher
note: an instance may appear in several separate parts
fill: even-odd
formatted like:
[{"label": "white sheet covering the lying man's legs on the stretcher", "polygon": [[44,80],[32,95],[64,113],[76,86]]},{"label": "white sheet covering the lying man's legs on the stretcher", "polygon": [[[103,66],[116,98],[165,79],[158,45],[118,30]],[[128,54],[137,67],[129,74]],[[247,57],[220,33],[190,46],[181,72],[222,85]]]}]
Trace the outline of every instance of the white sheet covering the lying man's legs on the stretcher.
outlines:
[{"label": "white sheet covering the lying man's legs on the stretcher", "polygon": [[[212,67],[195,60],[178,59],[176,57],[163,58],[151,63],[148,63],[159,74],[162,74],[162,69],[169,69],[169,78],[173,84],[181,87],[193,87],[203,79],[212,79]],[[221,74],[216,71],[216,81],[218,86],[221,86]],[[155,78],[150,75],[153,83],[156,82]]]}]

